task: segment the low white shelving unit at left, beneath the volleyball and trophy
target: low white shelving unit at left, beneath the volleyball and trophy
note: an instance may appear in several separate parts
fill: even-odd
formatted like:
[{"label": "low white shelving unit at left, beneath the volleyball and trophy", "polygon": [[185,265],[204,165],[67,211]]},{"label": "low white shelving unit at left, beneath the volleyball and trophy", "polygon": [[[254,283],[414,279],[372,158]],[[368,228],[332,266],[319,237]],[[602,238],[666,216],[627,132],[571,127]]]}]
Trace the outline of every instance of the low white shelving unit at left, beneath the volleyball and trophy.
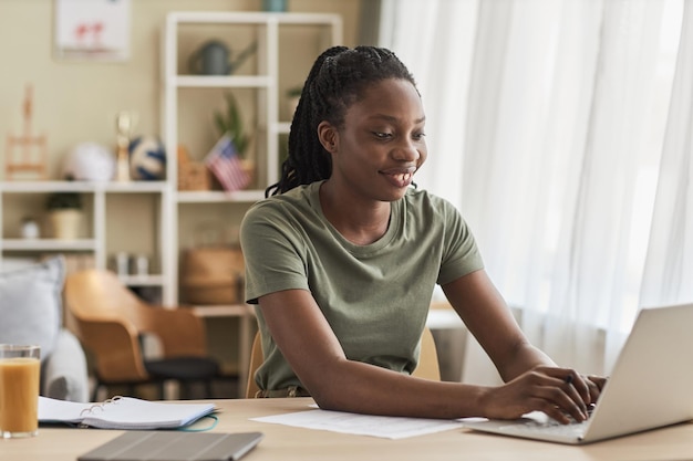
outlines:
[{"label": "low white shelving unit at left, beneath the volleyball and trophy", "polygon": [[[169,279],[166,268],[170,266],[166,262],[167,240],[164,233],[167,230],[165,207],[170,187],[169,182],[163,180],[0,181],[0,222],[4,224],[2,237],[0,237],[0,269],[3,269],[6,258],[37,260],[45,253],[61,253],[65,256],[68,271],[86,268],[105,270],[108,269],[111,254],[125,247],[133,252],[151,254],[156,265],[164,269],[162,274],[124,277],[123,283],[128,286],[151,286],[164,292]],[[79,235],[86,237],[71,240],[48,238],[52,234],[51,220],[41,196],[54,192],[77,192],[83,196],[85,203]],[[18,217],[23,213],[38,217],[37,222],[43,223],[42,238],[24,239],[19,237],[19,229],[12,229],[11,223],[19,223]],[[132,239],[128,235],[141,220],[149,222],[148,231],[137,233],[136,240]],[[123,224],[113,230],[114,223]],[[127,248],[131,240],[133,249]]]}]

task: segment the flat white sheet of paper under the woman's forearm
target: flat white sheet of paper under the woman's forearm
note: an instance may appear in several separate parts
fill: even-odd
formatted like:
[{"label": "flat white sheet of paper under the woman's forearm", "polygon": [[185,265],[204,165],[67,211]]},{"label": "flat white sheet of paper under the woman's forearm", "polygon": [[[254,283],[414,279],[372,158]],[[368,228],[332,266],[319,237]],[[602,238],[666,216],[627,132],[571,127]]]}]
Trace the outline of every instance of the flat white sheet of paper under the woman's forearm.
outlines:
[{"label": "flat white sheet of paper under the woman's forearm", "polygon": [[463,427],[458,420],[369,416],[320,409],[252,420],[385,439],[403,439]]}]

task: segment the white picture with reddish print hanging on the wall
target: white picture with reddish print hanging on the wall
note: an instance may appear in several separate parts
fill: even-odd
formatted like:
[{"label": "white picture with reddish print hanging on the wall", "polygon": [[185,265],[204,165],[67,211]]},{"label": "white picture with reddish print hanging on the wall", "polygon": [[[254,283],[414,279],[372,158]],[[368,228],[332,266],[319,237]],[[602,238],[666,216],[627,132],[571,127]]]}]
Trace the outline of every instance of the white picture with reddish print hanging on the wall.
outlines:
[{"label": "white picture with reddish print hanging on the wall", "polygon": [[58,59],[128,59],[131,0],[54,1]]}]

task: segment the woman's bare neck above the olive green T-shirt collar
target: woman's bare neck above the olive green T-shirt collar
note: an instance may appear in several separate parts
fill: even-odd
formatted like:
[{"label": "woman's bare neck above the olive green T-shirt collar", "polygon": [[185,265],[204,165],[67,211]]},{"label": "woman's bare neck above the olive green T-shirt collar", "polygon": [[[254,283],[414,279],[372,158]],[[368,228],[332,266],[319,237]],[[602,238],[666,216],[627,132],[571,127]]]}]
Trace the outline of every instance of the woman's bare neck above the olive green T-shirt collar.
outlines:
[{"label": "woman's bare neck above the olive green T-shirt collar", "polygon": [[377,241],[390,224],[390,202],[360,200],[354,195],[337,192],[325,181],[320,187],[322,213],[332,227],[354,244],[366,245]]}]

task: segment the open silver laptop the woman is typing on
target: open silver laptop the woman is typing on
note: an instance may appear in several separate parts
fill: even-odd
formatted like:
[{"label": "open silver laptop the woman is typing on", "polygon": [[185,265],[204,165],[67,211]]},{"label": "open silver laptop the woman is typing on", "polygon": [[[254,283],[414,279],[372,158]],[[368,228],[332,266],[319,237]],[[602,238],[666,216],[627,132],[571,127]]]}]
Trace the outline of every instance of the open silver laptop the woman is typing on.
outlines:
[{"label": "open silver laptop the woman is typing on", "polygon": [[590,443],[693,419],[693,304],[643,308],[591,417],[559,425],[542,412],[520,420],[466,419],[469,429],[560,443]]}]

